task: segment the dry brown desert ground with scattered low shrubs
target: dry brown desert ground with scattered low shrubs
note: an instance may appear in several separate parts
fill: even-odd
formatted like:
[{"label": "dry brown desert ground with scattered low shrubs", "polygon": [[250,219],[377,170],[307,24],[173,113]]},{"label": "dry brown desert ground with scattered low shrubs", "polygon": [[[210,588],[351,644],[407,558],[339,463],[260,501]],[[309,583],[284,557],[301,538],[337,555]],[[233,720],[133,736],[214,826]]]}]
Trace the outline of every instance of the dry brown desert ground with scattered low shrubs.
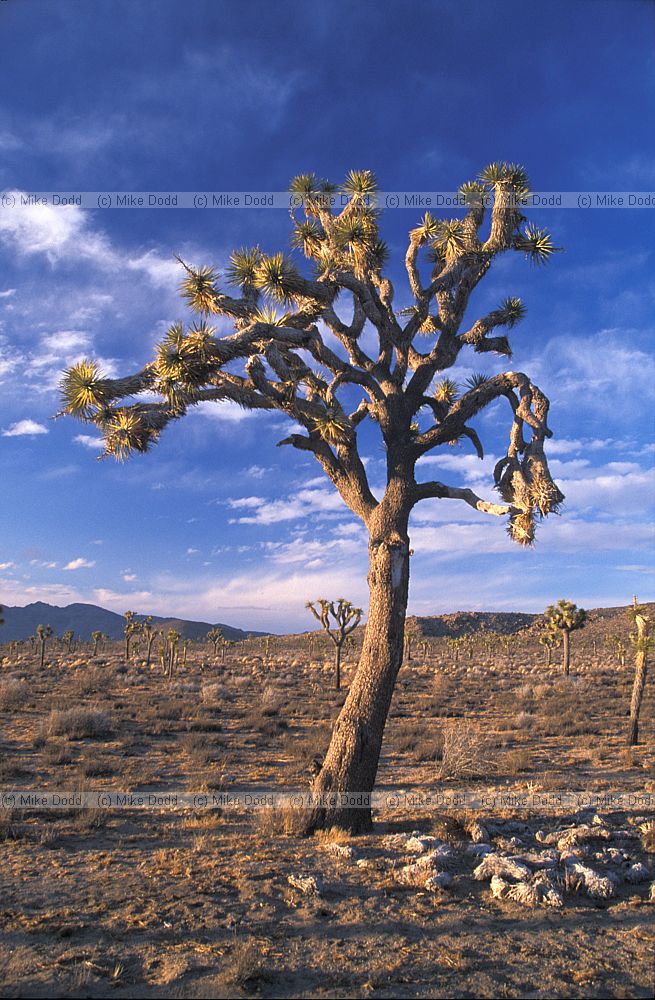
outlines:
[{"label": "dry brown desert ground with scattered low shrubs", "polygon": [[[6,804],[2,995],[652,996],[655,690],[628,748],[628,632],[623,613],[592,615],[567,678],[531,632],[457,645],[419,629],[378,775],[392,797],[364,837],[303,838],[291,806]],[[341,691],[320,635],[224,659],[192,642],[171,678],[143,646],[126,660],[120,642],[50,640],[40,668],[36,646],[5,645],[0,788],[306,789],[360,641]],[[520,805],[558,790],[579,808]]]}]

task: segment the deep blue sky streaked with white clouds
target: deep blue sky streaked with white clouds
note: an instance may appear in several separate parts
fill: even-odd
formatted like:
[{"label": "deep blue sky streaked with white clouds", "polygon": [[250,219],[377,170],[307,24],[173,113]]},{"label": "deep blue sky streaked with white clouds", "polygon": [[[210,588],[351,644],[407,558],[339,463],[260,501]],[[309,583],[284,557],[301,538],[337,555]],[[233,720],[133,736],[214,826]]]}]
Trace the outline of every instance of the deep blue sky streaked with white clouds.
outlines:
[{"label": "deep blue sky streaked with white clouds", "polygon": [[[283,191],[306,170],[370,168],[385,190],[455,190],[488,162],[537,191],[652,191],[655,8],[649,2],[0,3],[0,189]],[[388,273],[417,210],[386,214]],[[410,611],[626,603],[653,586],[652,214],[531,213],[565,248],[547,269],[500,260],[478,315],[519,295],[511,365],[551,398],[551,468],[567,503],[537,546],[453,501],[412,520]],[[53,422],[61,370],[127,373],[188,319],[173,254],[219,270],[235,246],[287,249],[282,210],[0,210],[0,601],[74,600],[272,630],[305,602],[366,603],[362,527],[309,458],[276,449],[279,416],[217,405],[151,453],[98,462],[93,428]],[[493,498],[507,412],[488,449],[433,455],[428,478]],[[379,444],[364,435],[372,483]]]}]

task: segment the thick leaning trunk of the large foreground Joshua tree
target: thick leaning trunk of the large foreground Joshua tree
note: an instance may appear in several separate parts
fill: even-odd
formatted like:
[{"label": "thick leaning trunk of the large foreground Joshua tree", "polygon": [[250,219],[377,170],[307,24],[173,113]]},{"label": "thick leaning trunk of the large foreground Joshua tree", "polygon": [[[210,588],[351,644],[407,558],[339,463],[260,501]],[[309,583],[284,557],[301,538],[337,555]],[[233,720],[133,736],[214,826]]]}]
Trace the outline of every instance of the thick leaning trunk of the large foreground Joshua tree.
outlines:
[{"label": "thick leaning trunk of the large foreground Joshua tree", "polygon": [[[357,672],[323,766],[312,786],[321,796],[309,815],[307,833],[338,826],[352,833],[370,830],[370,793],[380,759],[382,735],[402,665],[409,587],[407,519],[385,525],[369,541],[370,608]],[[339,795],[360,795],[352,805]],[[351,800],[352,801],[352,800]],[[358,802],[361,805],[358,805]]]}]

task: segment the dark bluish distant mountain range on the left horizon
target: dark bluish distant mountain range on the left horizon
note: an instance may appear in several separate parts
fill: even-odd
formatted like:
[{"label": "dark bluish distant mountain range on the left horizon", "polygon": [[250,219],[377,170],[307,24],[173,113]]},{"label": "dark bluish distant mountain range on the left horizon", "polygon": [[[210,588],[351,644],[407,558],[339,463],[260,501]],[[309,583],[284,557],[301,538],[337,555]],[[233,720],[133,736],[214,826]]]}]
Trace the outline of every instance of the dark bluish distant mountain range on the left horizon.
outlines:
[{"label": "dark bluish distant mountain range on the left horizon", "polygon": [[[122,615],[116,614],[115,611],[107,611],[106,608],[99,608],[95,604],[69,604],[65,608],[58,608],[54,604],[36,601],[24,608],[3,605],[2,614],[5,624],[0,625],[0,642],[27,639],[34,635],[37,625],[51,625],[55,635],[59,636],[72,629],[77,638],[86,640],[97,630],[104,632],[110,639],[121,639],[125,625]],[[137,615],[139,621],[145,617]],[[158,629],[176,629],[185,639],[204,639],[210,628],[220,628],[225,638],[231,642],[269,634],[245,632],[243,629],[222,623],[213,625],[209,622],[190,622],[183,618],[158,618],[156,615],[152,616],[152,622]]]}]

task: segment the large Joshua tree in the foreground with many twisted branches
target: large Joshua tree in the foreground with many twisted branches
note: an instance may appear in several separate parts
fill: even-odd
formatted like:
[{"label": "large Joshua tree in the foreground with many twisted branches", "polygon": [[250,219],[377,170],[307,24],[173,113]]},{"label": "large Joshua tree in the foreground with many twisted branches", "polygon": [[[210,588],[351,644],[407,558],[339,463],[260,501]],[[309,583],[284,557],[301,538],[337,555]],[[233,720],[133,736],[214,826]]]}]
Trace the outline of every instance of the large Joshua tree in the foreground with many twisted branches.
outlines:
[{"label": "large Joshua tree in the foreground with many twisted branches", "polygon": [[[493,163],[460,189],[463,218],[426,213],[411,230],[405,255],[410,305],[396,312],[394,287],[383,273],[387,248],[374,176],[351,172],[340,189],[312,174],[297,177],[291,185],[291,240],[309,259],[311,274],[285,254],[269,255],[258,246],[235,251],[220,282],[212,268],[181,261],[183,292],[197,320],[186,329],[173,324],[153,360],[135,374],[110,379],[85,360],[62,381],[63,412],[98,426],[106,454],[119,460],[147,451],[170,421],[201,402],[230,400],[281,411],[301,430],[280,444],[314,456],[366,526],[366,634],[313,784],[316,793],[373,788],[402,663],[413,507],[430,498],[461,501],[483,515],[507,517],[511,537],[531,545],[537,519],[564,499],[544,455],[551,436],[549,403],[530,378],[510,370],[474,376],[460,389],[444,377],[464,350],[511,355],[503,328],[523,318],[520,299],[506,298],[470,325],[468,306],[502,254],[516,252],[543,264],[555,251],[549,234],[523,214],[527,193],[523,168]],[[230,293],[223,281],[239,291]],[[221,324],[230,320],[234,332],[217,332],[211,317]],[[507,454],[495,469],[502,503],[468,488],[417,481],[419,459],[439,446],[468,443],[482,458],[471,421],[499,399],[507,401],[512,421]],[[364,421],[377,429],[386,453],[379,497],[358,446]],[[335,801],[334,808],[317,808],[309,830],[370,827],[369,810],[344,809],[338,796]]]}]

